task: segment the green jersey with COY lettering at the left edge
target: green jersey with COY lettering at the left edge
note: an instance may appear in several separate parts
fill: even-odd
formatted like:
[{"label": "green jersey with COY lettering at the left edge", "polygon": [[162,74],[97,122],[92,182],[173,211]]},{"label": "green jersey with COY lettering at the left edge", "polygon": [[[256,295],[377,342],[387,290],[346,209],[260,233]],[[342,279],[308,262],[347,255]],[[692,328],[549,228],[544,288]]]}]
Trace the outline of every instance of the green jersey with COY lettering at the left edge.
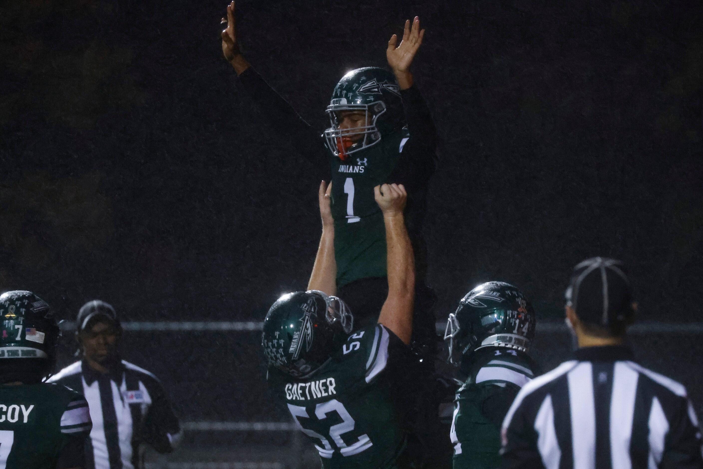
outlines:
[{"label": "green jersey with COY lettering at the left edge", "polygon": [[83,396],[63,385],[0,385],[0,469],[55,469],[92,423]]}]

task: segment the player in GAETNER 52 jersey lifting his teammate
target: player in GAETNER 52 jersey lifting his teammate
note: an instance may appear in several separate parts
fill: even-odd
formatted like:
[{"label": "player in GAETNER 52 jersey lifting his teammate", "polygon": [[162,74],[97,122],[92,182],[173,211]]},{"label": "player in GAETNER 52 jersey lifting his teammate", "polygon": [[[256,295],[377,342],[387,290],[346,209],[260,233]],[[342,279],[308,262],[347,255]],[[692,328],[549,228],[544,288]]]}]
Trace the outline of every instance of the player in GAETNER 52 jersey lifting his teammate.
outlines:
[{"label": "player in GAETNER 52 jersey lifting his teammate", "polygon": [[[324,184],[322,193],[324,196]],[[329,192],[325,198],[328,198]],[[401,185],[375,188],[388,244],[388,296],[378,323],[354,327],[349,307],[313,289],[334,281],[334,251],[321,243],[307,292],[280,297],[264,319],[269,385],[320,453],[324,469],[405,468],[403,412],[415,273]],[[329,203],[323,224],[332,224]],[[325,217],[326,212],[326,217]],[[354,332],[356,331],[356,332]],[[404,381],[403,381],[404,380]]]}]

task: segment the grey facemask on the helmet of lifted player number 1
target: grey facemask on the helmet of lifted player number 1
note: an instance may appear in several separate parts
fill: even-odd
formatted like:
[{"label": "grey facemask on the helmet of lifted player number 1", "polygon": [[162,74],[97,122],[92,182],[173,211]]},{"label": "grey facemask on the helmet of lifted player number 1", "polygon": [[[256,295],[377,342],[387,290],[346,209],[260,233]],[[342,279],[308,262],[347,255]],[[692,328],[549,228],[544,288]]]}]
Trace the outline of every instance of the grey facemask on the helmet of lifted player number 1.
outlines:
[{"label": "grey facemask on the helmet of lifted player number 1", "polygon": [[[352,129],[340,129],[342,117],[338,113],[343,111],[363,111],[366,125]],[[381,132],[376,126],[376,121],[385,112],[386,105],[383,101],[369,104],[349,104],[346,98],[333,99],[327,107],[331,127],[325,130],[325,142],[330,151],[341,160],[346,160],[352,153],[380,142]],[[354,136],[359,136],[359,139],[352,139]]]}]

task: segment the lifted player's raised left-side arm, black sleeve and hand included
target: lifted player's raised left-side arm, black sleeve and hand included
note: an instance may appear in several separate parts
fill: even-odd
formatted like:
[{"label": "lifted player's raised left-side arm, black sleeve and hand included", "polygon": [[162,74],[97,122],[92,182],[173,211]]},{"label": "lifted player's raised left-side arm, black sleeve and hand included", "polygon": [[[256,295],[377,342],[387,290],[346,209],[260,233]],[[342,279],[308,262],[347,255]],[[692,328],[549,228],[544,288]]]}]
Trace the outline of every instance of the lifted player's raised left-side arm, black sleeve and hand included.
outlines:
[{"label": "lifted player's raised left-side arm, black sleeve and hand included", "polygon": [[283,143],[312,162],[318,176],[328,177],[327,154],[320,139],[320,132],[312,129],[242,55],[237,38],[234,1],[227,6],[227,18],[222,18],[222,23],[226,23],[221,32],[222,53],[239,77],[240,86],[264,111],[264,117],[271,127],[276,129]]}]

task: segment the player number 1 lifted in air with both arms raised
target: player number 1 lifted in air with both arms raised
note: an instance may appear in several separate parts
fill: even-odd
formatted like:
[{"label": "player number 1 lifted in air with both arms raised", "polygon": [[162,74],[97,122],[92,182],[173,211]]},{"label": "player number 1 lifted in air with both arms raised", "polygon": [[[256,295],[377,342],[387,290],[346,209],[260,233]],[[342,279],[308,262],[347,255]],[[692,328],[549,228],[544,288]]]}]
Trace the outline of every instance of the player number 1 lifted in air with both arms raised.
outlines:
[{"label": "player number 1 lifted in air with both arms raised", "polygon": [[[222,51],[238,75],[239,87],[266,111],[281,141],[311,162],[316,181],[330,181],[331,170],[337,273],[335,284],[325,293],[344,298],[354,311],[357,328],[377,321],[388,291],[383,215],[373,188],[396,183],[407,189],[406,224],[417,269],[413,342],[417,349],[434,352],[438,343],[430,312],[434,293],[425,286],[421,229],[437,136],[410,72],[425,33],[420,20],[415,18],[412,25],[406,21],[400,44],[395,34],[388,42],[386,56],[392,72],[365,67],[340,79],[327,107],[330,127],[323,138],[321,129],[302,120],[242,56],[234,2],[222,22],[226,23]],[[425,364],[431,362],[425,360]]]}]

